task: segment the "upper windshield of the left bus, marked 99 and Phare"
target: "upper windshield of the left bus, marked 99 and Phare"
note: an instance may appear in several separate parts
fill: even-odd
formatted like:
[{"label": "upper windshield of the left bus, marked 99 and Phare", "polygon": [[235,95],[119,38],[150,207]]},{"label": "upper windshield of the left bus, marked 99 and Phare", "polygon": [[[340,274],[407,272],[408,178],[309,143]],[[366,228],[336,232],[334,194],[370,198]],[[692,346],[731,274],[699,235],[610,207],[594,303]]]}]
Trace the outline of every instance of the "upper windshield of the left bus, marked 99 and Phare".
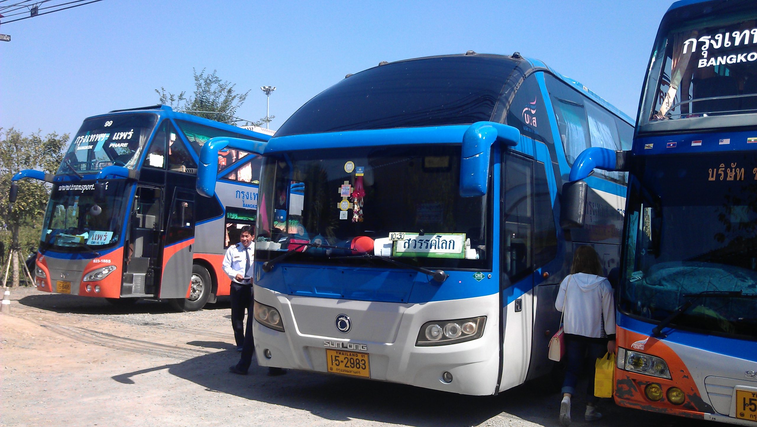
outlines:
[{"label": "upper windshield of the left bus, marked 99 and Phare", "polygon": [[134,169],[156,121],[155,114],[114,114],[84,120],[58,174],[97,172],[111,165]]}]

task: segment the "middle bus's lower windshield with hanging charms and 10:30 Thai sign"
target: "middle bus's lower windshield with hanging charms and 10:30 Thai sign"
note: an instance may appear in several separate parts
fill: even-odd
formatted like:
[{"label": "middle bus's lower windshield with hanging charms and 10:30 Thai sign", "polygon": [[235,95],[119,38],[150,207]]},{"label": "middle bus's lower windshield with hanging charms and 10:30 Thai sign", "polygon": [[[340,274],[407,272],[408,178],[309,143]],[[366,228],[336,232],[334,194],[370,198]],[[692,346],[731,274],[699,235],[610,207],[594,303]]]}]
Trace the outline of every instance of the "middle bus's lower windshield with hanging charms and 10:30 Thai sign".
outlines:
[{"label": "middle bus's lower windshield with hanging charms and 10:30 Thai sign", "polygon": [[[459,145],[297,151],[265,162],[256,260],[298,251],[288,260],[391,266],[367,252],[418,266],[489,265],[488,198],[460,197]],[[401,242],[389,241],[399,232]]]}]

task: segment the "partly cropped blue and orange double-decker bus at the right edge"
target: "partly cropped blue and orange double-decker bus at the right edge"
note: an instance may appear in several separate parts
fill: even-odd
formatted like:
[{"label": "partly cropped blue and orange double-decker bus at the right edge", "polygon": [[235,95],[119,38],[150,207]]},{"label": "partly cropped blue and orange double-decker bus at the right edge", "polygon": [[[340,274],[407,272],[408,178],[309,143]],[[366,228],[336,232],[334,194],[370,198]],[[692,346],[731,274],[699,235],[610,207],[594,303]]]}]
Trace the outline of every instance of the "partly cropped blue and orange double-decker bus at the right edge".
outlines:
[{"label": "partly cropped blue and orange double-decker bus at the right edge", "polygon": [[628,171],[615,402],[757,425],[757,2],[671,5],[633,148],[570,180],[594,167]]}]

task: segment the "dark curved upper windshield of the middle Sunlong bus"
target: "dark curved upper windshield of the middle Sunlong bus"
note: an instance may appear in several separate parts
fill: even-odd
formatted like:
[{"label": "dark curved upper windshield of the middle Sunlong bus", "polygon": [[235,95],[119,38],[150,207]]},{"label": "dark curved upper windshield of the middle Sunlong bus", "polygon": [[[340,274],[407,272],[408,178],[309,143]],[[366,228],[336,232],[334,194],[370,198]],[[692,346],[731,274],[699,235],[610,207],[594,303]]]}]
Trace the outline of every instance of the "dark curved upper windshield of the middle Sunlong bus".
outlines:
[{"label": "dark curved upper windshield of the middle Sunlong bus", "polygon": [[495,55],[459,55],[373,67],[307,101],[276,136],[491,120],[516,64]]}]

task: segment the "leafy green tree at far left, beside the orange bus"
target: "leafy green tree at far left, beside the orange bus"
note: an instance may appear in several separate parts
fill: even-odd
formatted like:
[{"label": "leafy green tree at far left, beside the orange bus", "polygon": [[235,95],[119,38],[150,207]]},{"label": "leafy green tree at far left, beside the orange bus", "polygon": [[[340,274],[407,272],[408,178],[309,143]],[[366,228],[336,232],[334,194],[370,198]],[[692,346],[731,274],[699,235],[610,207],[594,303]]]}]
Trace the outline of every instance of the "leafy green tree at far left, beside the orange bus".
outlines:
[{"label": "leafy green tree at far left, beside the orange bus", "polygon": [[[14,173],[24,169],[55,173],[61,164],[68,134],[56,132],[42,136],[40,132],[23,136],[11,128],[0,128],[0,221],[5,232],[2,240],[5,247],[19,249],[28,254],[39,242],[40,226],[45,215],[45,206],[50,196],[50,187],[36,180],[22,179],[18,197],[11,210],[8,209],[8,189]],[[14,252],[13,282],[19,283],[17,252]],[[4,254],[5,255],[5,254]],[[5,270],[2,271],[5,274]]]}]

